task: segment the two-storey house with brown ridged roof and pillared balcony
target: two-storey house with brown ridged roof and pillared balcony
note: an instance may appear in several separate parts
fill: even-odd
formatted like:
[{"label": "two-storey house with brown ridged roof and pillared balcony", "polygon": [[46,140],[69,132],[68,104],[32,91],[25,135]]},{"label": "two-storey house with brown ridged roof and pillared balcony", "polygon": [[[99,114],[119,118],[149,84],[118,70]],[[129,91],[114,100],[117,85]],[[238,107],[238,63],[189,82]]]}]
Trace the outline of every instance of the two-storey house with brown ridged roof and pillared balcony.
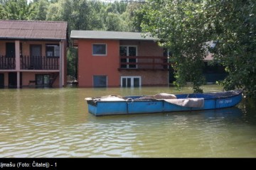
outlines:
[{"label": "two-storey house with brown ridged roof and pillared balcony", "polygon": [[67,22],[0,20],[0,87],[63,87]]}]

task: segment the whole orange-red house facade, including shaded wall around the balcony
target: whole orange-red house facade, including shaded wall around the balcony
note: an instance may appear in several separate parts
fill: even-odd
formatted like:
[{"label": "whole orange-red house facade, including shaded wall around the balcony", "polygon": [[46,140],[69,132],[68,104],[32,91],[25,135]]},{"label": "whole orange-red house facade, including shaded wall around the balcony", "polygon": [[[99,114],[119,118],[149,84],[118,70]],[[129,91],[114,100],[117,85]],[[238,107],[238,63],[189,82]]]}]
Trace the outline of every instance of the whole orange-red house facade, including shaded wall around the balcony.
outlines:
[{"label": "whole orange-red house facade, including shaded wall around the balcony", "polygon": [[[107,55],[92,55],[92,44],[94,43],[107,44]],[[154,41],[80,39],[78,40],[78,86],[92,87],[93,75],[107,76],[107,86],[109,87],[120,86],[121,76],[140,76],[142,77],[142,86],[168,85],[168,71],[142,69],[118,71],[120,45],[136,45],[138,56],[164,56],[163,49]],[[143,62],[152,62],[152,60],[144,59]]]}]

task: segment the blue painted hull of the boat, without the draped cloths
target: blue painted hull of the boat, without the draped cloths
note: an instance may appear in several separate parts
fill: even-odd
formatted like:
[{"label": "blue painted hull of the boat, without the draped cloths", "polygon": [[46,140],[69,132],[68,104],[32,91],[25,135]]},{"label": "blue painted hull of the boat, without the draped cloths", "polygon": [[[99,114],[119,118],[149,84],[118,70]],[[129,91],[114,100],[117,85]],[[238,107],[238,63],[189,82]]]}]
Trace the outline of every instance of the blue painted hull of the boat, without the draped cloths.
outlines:
[{"label": "blue painted hull of the boat, without the draped cloths", "polygon": [[[203,94],[201,94],[202,97]],[[178,95],[177,95],[178,96]],[[184,95],[178,96],[183,98]],[[193,108],[178,106],[165,100],[136,101],[129,97],[126,101],[87,101],[88,111],[93,115],[122,115],[137,113],[166,113],[178,111],[201,111],[218,108],[228,108],[237,105],[242,100],[242,93],[224,98],[205,97],[203,107]],[[135,97],[134,97],[135,98]]]}]

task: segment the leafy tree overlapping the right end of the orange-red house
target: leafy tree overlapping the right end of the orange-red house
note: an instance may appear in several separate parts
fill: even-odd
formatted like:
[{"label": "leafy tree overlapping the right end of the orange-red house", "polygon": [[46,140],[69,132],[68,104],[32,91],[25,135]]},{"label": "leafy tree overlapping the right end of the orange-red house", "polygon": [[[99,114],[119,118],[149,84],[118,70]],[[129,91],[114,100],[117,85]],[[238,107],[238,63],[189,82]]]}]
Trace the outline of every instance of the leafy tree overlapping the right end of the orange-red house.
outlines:
[{"label": "leafy tree overlapping the right end of the orange-red house", "polygon": [[144,32],[159,38],[159,45],[171,51],[175,84],[191,81],[194,92],[202,92],[200,85],[205,82],[201,67],[208,32],[203,31],[203,19],[201,4],[193,1],[149,1],[137,19]]}]

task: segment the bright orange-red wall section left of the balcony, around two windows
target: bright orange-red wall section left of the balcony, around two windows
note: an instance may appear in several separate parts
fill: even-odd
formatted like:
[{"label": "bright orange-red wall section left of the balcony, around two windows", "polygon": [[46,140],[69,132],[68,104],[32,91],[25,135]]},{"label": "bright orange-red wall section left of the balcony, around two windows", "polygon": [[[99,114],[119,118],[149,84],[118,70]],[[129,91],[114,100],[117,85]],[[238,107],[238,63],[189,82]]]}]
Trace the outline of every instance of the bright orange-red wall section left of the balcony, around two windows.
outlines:
[{"label": "bright orange-red wall section left of the balcony, around two windows", "polygon": [[[107,44],[107,55],[92,55],[92,44]],[[78,84],[92,87],[93,76],[107,76],[107,86],[119,86],[119,40],[78,40]]]}]

